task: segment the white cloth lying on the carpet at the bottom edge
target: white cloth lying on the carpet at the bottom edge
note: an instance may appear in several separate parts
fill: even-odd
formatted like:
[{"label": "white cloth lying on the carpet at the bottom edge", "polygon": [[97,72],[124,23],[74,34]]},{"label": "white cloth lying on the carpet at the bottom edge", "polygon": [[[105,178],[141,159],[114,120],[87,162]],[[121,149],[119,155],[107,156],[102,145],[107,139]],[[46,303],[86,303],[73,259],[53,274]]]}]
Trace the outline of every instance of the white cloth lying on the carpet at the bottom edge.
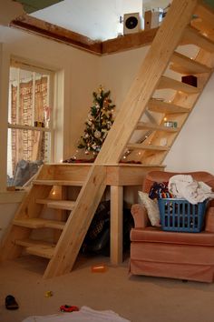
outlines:
[{"label": "white cloth lying on the carpet at the bottom edge", "polygon": [[26,317],[23,322],[131,322],[112,310],[96,311],[81,307],[79,311],[53,314],[51,316]]}]

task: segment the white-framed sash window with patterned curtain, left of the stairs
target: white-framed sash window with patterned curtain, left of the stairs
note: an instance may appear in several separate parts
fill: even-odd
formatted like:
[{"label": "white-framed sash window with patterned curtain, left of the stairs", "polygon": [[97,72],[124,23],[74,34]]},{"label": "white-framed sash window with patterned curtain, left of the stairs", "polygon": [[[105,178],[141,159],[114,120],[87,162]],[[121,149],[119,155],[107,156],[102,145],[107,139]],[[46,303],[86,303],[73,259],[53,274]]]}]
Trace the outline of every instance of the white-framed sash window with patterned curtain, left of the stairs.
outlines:
[{"label": "white-framed sash window with patterned curtain, left of the stairs", "polygon": [[53,146],[53,72],[17,62],[10,65],[7,186],[24,186]]}]

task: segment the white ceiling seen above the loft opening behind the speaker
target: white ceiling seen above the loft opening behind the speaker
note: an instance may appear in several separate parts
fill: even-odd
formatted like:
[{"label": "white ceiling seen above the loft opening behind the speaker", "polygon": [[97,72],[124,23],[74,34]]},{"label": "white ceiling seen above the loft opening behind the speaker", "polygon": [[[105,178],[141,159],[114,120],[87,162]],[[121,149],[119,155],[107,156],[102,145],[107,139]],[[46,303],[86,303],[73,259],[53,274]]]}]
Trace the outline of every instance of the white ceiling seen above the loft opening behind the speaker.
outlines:
[{"label": "white ceiling seen above the loft opening behind the speaker", "polygon": [[142,23],[143,9],[164,8],[169,3],[170,0],[64,0],[32,16],[103,41],[122,33],[120,16],[140,13]]}]

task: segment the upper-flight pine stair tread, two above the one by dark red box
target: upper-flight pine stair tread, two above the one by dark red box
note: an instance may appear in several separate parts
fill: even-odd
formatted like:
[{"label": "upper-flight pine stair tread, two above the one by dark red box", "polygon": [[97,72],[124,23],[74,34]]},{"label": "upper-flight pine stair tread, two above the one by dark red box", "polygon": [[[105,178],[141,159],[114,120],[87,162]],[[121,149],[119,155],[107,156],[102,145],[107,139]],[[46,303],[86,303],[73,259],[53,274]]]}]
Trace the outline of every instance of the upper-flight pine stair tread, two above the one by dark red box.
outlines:
[{"label": "upper-flight pine stair tread, two above the one by dark red box", "polygon": [[183,43],[198,45],[209,52],[214,52],[214,42],[205,35],[201,35],[198,30],[188,26],[182,39]]}]

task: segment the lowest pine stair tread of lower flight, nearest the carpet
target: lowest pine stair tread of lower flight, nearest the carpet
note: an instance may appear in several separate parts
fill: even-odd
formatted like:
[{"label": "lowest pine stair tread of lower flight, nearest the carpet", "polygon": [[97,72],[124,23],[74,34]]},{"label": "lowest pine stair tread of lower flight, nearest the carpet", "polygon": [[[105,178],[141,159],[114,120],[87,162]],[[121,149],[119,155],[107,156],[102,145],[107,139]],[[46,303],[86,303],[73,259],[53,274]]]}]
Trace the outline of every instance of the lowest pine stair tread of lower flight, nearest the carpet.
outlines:
[{"label": "lowest pine stair tread of lower flight, nearest the carpet", "polygon": [[44,257],[51,259],[54,254],[55,245],[48,242],[43,242],[40,240],[24,239],[15,240],[15,245],[25,247],[25,252],[27,254]]}]

